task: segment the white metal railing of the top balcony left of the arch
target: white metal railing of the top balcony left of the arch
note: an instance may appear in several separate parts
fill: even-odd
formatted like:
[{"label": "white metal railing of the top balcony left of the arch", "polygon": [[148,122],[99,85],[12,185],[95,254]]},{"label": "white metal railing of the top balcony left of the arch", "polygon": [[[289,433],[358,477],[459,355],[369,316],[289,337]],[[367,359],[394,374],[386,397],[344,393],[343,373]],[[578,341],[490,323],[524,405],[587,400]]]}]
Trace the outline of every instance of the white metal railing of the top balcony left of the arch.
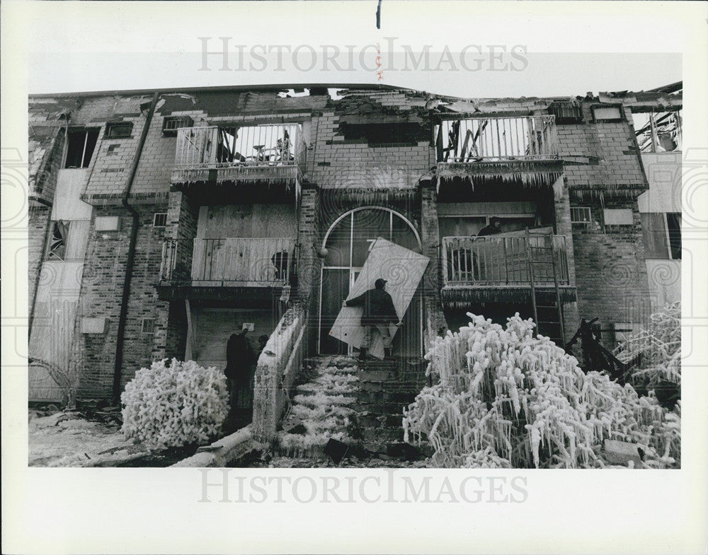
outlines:
[{"label": "white metal railing of the top balcony left of the arch", "polygon": [[305,152],[299,124],[183,127],[177,132],[175,169],[298,166],[304,170]]}]

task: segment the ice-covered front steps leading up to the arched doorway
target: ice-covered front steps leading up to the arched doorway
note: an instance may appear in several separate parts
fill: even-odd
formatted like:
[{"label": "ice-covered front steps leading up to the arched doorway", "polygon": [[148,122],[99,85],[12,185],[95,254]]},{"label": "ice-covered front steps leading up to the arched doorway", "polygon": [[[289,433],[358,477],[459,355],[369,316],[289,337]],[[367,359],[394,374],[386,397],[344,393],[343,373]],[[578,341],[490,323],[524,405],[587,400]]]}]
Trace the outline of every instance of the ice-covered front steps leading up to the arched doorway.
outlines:
[{"label": "ice-covered front steps leading up to the arched doorway", "polygon": [[422,361],[348,356],[307,359],[278,432],[280,455],[321,457],[330,438],[394,454],[403,442],[403,408],[426,384]]}]

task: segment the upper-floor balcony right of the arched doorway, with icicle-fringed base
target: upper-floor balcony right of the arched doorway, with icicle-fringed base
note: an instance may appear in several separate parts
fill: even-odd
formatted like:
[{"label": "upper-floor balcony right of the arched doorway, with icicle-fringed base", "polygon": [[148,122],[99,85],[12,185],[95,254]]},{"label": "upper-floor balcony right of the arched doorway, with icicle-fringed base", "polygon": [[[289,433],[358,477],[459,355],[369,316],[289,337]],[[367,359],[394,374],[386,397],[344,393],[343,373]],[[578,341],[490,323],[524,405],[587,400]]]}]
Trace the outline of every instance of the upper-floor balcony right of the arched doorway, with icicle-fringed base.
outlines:
[{"label": "upper-floor balcony right of the arched doorway, with icicle-fringed base", "polygon": [[561,175],[552,115],[445,119],[437,127],[438,190],[455,178],[551,185]]}]

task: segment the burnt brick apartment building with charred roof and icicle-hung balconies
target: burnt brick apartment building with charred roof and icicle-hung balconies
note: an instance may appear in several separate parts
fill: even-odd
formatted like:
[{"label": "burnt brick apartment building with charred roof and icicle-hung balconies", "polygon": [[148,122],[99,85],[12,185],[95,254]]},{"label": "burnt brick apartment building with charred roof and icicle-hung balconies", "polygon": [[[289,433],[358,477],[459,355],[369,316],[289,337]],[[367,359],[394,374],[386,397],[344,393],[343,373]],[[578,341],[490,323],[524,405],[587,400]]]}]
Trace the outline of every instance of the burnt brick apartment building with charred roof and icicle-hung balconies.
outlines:
[{"label": "burnt brick apartment building with charred roof and icicle-hung balconies", "polygon": [[253,414],[272,428],[304,358],[351,354],[329,329],[376,238],[430,259],[404,363],[466,312],[535,317],[559,344],[597,317],[611,347],[678,300],[680,108],[680,83],[33,95],[30,401],[115,398],[164,357],[223,368],[246,323],[269,338]]}]

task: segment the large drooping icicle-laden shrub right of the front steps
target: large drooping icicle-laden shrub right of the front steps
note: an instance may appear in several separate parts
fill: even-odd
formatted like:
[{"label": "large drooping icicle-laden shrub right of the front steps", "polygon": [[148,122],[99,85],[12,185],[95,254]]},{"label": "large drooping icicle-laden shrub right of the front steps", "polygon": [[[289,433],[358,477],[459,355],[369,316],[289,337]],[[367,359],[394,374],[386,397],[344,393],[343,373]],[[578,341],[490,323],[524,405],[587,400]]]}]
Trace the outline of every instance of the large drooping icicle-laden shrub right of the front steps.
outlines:
[{"label": "large drooping icicle-laden shrub right of the front steps", "polygon": [[678,464],[680,417],[607,375],[588,374],[519,315],[506,329],[468,313],[426,358],[437,383],[404,410],[406,440],[440,467],[603,467],[605,438],[637,443],[644,465]]}]

